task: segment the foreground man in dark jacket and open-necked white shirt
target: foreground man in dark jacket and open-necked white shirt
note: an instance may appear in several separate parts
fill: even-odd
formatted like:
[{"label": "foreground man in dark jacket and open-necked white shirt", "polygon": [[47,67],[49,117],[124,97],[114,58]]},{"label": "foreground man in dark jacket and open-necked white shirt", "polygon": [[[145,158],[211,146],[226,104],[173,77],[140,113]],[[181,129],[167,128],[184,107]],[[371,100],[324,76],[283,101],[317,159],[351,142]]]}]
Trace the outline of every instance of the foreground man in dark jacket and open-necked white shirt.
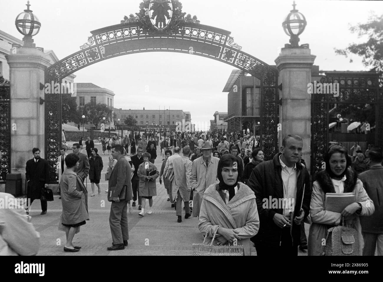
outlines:
[{"label": "foreground man in dark jacket and open-necked white shirt", "polygon": [[258,256],[298,255],[300,224],[309,214],[311,201],[309,174],[298,163],[302,147],[300,136],[287,135],[282,153],[257,165],[247,182],[257,197],[260,229],[252,241]]}]

